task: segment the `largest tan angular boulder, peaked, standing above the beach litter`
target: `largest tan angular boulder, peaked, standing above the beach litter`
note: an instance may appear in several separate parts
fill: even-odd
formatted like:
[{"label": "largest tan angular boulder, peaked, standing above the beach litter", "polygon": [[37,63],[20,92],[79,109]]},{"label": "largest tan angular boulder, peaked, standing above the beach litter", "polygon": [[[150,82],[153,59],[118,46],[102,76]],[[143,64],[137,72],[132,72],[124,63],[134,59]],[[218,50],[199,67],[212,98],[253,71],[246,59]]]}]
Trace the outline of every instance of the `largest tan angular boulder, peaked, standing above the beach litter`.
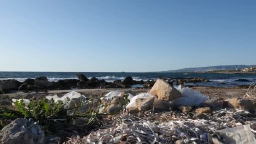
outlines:
[{"label": "largest tan angular boulder, peaked, standing above the beach litter", "polygon": [[169,83],[162,79],[158,79],[155,85],[151,88],[149,93],[157,96],[158,99],[163,101],[171,101],[182,97],[181,93]]}]

